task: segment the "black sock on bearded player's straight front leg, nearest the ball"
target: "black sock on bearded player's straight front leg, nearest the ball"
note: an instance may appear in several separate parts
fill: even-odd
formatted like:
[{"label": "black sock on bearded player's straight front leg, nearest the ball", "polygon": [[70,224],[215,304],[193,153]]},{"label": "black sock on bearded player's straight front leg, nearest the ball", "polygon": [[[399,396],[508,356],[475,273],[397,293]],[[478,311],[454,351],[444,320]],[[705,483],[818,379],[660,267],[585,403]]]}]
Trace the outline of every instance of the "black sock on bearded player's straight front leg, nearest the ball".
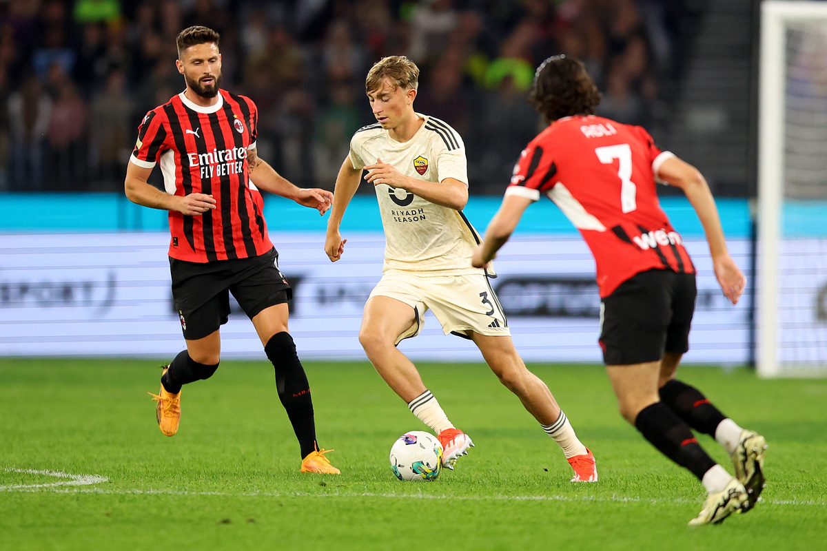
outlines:
[{"label": "black sock on bearded player's straight front leg, nearest the ball", "polygon": [[299,439],[302,458],[305,458],[316,449],[316,423],[310,384],[296,354],[293,337],[285,331],[276,333],[267,342],[264,351],[275,368],[275,388]]}]

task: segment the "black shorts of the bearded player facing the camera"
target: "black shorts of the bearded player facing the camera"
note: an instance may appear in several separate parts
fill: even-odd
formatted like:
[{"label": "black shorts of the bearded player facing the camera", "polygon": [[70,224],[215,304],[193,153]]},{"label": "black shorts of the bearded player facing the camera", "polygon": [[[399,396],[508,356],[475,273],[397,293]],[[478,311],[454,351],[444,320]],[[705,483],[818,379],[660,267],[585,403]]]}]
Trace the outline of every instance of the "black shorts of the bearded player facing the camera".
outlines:
[{"label": "black shorts of the bearded player facing the camera", "polygon": [[187,340],[203,339],[227,323],[231,292],[250,319],[293,297],[275,249],[249,259],[208,263],[170,258],[170,273],[172,299]]}]

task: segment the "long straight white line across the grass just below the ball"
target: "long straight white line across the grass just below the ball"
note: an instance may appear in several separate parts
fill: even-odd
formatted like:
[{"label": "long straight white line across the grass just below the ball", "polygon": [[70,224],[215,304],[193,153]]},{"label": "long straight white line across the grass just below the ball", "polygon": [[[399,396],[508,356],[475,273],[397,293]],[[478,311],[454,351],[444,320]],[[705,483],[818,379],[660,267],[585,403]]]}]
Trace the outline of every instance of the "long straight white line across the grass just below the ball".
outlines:
[{"label": "long straight white line across the grass just below the ball", "polygon": [[[105,490],[102,488],[57,488],[57,487],[0,487],[2,492],[53,492],[53,493],[92,493],[103,495],[167,495],[167,496],[227,496],[227,497],[376,497],[381,499],[426,499],[426,500],[458,500],[458,501],[591,501],[598,503],[696,503],[690,499],[644,498],[639,496],[446,496],[434,494],[396,494],[375,492],[187,492],[184,490]],[[699,498],[700,499],[700,498]],[[764,506],[827,506],[825,501],[803,500],[767,500],[762,498]]]}]

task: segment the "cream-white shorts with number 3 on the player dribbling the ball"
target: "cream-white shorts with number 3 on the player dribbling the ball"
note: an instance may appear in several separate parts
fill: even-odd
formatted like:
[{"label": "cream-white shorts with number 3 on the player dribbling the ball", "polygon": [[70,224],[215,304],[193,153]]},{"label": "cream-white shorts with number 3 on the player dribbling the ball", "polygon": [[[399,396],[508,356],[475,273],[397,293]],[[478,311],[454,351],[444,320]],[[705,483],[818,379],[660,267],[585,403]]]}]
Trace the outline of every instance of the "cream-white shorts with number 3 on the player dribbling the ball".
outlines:
[{"label": "cream-white shorts with number 3 on the player dribbling the ball", "polygon": [[370,292],[370,297],[395,298],[414,308],[416,321],[396,340],[419,334],[425,312],[433,311],[447,335],[470,339],[468,331],[480,335],[511,335],[500,300],[484,273],[463,275],[422,275],[388,270]]}]

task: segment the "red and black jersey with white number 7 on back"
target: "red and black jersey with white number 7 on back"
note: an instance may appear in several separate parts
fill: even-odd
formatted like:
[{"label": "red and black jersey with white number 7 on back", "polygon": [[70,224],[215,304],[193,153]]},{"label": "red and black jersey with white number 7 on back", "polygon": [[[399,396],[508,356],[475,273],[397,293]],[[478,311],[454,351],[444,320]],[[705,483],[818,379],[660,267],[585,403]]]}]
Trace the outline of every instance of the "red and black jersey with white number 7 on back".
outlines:
[{"label": "red and black jersey with white number 7 on back", "polygon": [[657,201],[657,170],[674,157],[640,126],[600,116],[552,123],[523,150],[506,195],[546,194],[589,245],[600,297],[648,269],[695,273]]}]

